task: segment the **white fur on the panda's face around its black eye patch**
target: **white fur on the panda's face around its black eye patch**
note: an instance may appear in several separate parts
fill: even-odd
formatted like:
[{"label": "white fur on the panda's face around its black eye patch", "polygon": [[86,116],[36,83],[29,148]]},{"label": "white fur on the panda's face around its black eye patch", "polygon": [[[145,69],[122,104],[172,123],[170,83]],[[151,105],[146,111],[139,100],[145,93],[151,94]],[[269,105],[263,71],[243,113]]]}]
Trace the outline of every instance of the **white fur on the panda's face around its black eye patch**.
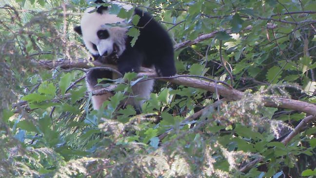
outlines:
[{"label": "white fur on the panda's face around its black eye patch", "polygon": [[[82,39],[87,49],[93,55],[103,55],[107,52],[110,55],[113,52],[113,44],[119,46],[118,56],[125,50],[125,39],[127,29],[121,27],[107,28],[106,23],[124,23],[124,19],[117,17],[115,14],[109,14],[104,11],[102,14],[97,12],[89,13],[95,8],[90,7],[84,12],[81,19]],[[110,37],[107,39],[99,39],[97,32],[99,30],[107,30]],[[93,44],[97,45],[98,50],[93,48]]]}]

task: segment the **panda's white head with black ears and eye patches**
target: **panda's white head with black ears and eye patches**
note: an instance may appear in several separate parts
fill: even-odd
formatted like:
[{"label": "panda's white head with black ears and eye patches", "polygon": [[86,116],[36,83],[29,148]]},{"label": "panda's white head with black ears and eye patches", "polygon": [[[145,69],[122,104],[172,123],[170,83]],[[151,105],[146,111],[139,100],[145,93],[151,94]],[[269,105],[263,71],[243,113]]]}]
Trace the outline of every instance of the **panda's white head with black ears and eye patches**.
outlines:
[{"label": "panda's white head with black ears and eye patches", "polygon": [[[123,4],[123,8],[131,8]],[[125,50],[127,28],[113,27],[114,23],[125,23],[124,19],[111,14],[107,7],[100,6],[87,8],[84,12],[80,26],[74,30],[82,36],[86,48],[92,55],[108,56],[113,53],[120,56]]]}]

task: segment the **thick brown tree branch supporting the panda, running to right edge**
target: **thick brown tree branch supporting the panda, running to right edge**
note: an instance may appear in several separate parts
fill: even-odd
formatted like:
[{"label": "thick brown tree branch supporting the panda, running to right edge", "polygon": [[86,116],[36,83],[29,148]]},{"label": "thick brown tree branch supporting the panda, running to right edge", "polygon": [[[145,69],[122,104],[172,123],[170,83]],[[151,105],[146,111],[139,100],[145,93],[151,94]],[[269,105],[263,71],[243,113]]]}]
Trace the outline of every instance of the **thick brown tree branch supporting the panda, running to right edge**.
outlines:
[{"label": "thick brown tree branch supporting the panda, running to right edge", "polygon": [[[54,69],[56,67],[69,69],[73,67],[81,67],[81,68],[91,68],[91,64],[96,66],[105,66],[105,67],[113,67],[116,68],[114,65],[105,65],[98,61],[93,61],[91,63],[87,63],[85,60],[78,60],[78,61],[69,61],[69,60],[59,60],[59,61],[51,61],[51,60],[40,60],[39,64],[46,68],[46,69]],[[140,72],[146,73],[148,77],[157,77],[156,72],[153,69],[148,68],[141,68]],[[216,82],[210,82],[203,79],[193,79],[189,77],[181,77],[177,75],[177,78],[170,78],[170,79],[159,79],[163,81],[169,81],[172,83],[176,83],[178,85],[184,85],[194,88],[199,88],[203,90],[207,90],[213,93],[216,93],[228,100],[238,100],[242,99],[243,92],[240,92],[235,89],[227,88],[223,85],[220,85]],[[102,94],[102,89],[97,92],[97,95]],[[108,89],[104,90],[103,92],[108,91]],[[271,98],[266,97],[263,99],[263,103],[265,106],[268,107],[277,107],[277,108],[284,108],[284,109],[291,109],[299,112],[304,112],[313,116],[316,116],[316,105],[304,101],[299,101],[295,99],[286,99],[286,98]]]}]

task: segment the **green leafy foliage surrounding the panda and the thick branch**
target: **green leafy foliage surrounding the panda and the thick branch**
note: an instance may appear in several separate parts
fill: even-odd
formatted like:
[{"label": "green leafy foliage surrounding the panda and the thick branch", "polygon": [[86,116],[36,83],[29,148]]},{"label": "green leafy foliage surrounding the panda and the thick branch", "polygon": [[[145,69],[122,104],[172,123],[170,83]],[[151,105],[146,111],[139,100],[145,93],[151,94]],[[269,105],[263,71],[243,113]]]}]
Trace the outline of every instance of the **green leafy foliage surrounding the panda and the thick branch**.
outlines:
[{"label": "green leafy foliage surrounding the panda and the thick branch", "polygon": [[[175,44],[217,32],[179,45],[178,73],[232,81],[244,97],[222,100],[218,93],[157,81],[136,115],[132,106],[120,108],[139,81],[129,73],[113,81],[116,94],[104,103],[107,109],[92,110],[82,69],[39,65],[41,59],[89,59],[72,29],[89,4],[0,2],[1,177],[316,175],[315,122],[285,145],[281,140],[306,114],[263,103],[276,97],[316,103],[314,0],[129,2],[150,11]],[[137,24],[139,17],[114,7]],[[138,28],[128,35],[135,43]],[[242,170],[255,159],[261,163]]]}]

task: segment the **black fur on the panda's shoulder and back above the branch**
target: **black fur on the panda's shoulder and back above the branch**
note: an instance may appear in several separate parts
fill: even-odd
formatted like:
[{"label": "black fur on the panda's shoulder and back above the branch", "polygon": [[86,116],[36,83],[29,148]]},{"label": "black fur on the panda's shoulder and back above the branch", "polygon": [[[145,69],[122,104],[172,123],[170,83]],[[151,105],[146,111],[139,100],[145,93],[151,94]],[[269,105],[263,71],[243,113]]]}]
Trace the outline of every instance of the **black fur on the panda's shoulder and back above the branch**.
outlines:
[{"label": "black fur on the panda's shoulder and back above the branch", "polygon": [[176,74],[174,49],[166,30],[141,9],[136,8],[135,14],[140,17],[137,27],[140,35],[132,47],[132,37],[126,41],[126,49],[118,59],[119,72],[138,72],[140,66],[155,66],[159,76],[169,77]]}]

